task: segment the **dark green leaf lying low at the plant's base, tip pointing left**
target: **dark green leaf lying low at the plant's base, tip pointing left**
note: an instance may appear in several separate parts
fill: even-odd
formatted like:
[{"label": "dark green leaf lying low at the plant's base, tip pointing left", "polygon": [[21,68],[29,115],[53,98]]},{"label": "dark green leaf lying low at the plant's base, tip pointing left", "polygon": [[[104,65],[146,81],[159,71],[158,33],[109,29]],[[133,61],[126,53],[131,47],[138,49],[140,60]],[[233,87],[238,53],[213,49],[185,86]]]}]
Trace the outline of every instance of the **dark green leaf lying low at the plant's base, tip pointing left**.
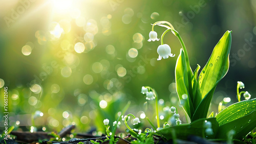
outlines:
[{"label": "dark green leaf lying low at the plant's base, tip pointing left", "polygon": [[164,136],[167,140],[172,139],[172,131],[175,132],[176,137],[178,139],[187,139],[187,136],[189,135],[197,135],[200,137],[205,136],[205,120],[211,122],[212,131],[214,131],[214,135],[209,135],[207,138],[215,138],[215,135],[217,134],[219,124],[215,117],[213,118],[202,118],[198,119],[196,121],[191,122],[191,124],[181,124],[179,126],[172,126],[164,128],[160,131],[157,131],[156,134],[160,134]]}]

